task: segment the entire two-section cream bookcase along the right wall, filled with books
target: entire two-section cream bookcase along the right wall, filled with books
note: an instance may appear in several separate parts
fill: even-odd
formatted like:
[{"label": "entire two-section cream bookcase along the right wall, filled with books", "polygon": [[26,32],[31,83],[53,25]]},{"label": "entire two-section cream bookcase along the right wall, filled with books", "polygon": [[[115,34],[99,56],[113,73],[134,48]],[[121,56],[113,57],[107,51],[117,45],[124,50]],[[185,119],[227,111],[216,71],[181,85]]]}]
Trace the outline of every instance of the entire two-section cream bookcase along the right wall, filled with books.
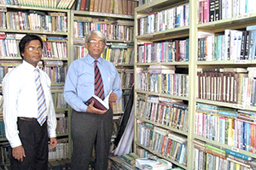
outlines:
[{"label": "entire two-section cream bookcase along the right wall, filled with books", "polygon": [[[234,42],[233,44],[230,42],[232,45],[230,45],[231,51],[229,57],[224,58],[227,55],[225,54],[227,50],[225,48],[226,43],[223,42],[224,37],[228,35],[229,32],[226,30],[236,30],[236,32],[238,32],[237,35],[240,33],[242,38],[243,35],[246,35],[244,31],[247,31],[247,26],[256,25],[255,10],[251,7],[253,1],[244,3],[244,6],[241,6],[241,1],[236,1],[240,2],[240,4],[234,2],[230,5],[233,13],[222,13],[223,15],[219,15],[218,18],[215,16],[213,20],[209,20],[210,18],[204,18],[203,16],[211,16],[209,3],[212,2],[217,3],[217,1],[200,0],[182,2],[175,0],[139,1],[141,6],[135,9],[135,51],[137,58],[135,59],[134,68],[134,105],[137,105],[138,109],[135,111],[134,148],[143,156],[151,153],[165,158],[168,161],[172,161],[173,165],[177,165],[183,169],[255,168],[254,161],[248,161],[251,158],[256,158],[254,150],[255,125],[252,116],[256,111],[253,103],[255,90],[250,88],[252,85],[244,84],[247,83],[247,81],[254,83],[253,72],[250,72],[248,69],[248,67],[255,67],[256,64],[254,55],[250,55],[250,53],[252,53],[252,49],[250,48],[253,47],[253,44],[249,45],[248,48],[244,48],[244,53],[242,51],[244,49],[242,48],[239,50],[242,52],[241,54],[234,52],[235,49],[240,48],[237,44],[241,46],[242,42],[238,42],[237,39],[236,43],[236,36],[230,34],[230,37],[233,36],[234,38],[231,38],[230,41]],[[219,11],[227,8],[224,6],[224,2],[232,1],[218,2],[219,3],[215,4],[215,7],[219,7],[218,5],[220,5],[220,7],[213,8],[213,11],[215,11],[213,14],[219,14]],[[168,8],[176,8],[186,3],[189,3],[189,26],[173,27],[172,29],[163,29],[161,31],[151,31],[148,27],[144,27],[144,30],[141,30],[143,26],[146,26],[145,24],[141,24],[145,22],[145,20],[148,21],[146,24],[150,26],[152,22],[149,20],[153,18],[153,20],[156,21],[155,18],[161,16],[157,15],[160,11]],[[236,10],[234,8],[236,8]],[[234,11],[236,11],[236,13]],[[168,22],[166,26],[168,26]],[[151,26],[151,28],[152,27],[154,28],[154,26]],[[159,29],[159,27],[156,27],[156,29]],[[251,35],[249,31],[247,31],[247,33]],[[220,39],[221,37],[223,39],[220,43],[218,42],[220,40],[217,38]],[[155,47],[157,47],[155,43],[168,42],[170,40],[184,40],[186,38],[189,38],[188,61],[172,59],[172,62],[169,60],[165,62],[166,60],[163,58],[155,60],[152,57],[154,54],[148,53],[150,50],[155,50]],[[206,39],[207,42],[205,42]],[[246,41],[245,43],[247,44]],[[246,44],[243,47],[247,47]],[[162,47],[165,47],[165,45],[162,45]],[[234,50],[233,53],[232,50]],[[145,54],[143,54],[142,51]],[[165,53],[168,54],[167,52]],[[173,91],[169,88],[167,88],[166,93],[166,84],[164,84],[165,86],[160,86],[159,84],[156,88],[151,88],[151,86],[154,87],[154,83],[150,82],[154,82],[154,79],[152,80],[150,76],[150,74],[154,74],[154,70],[150,69],[151,65],[169,66],[169,70],[172,70],[171,66],[174,65],[174,74],[180,71],[180,69],[187,70],[188,72],[186,74],[189,75],[189,86],[187,87],[189,89],[188,95],[181,96],[179,93],[172,94]],[[215,73],[209,73],[209,69],[212,69],[212,72]],[[213,69],[223,70],[213,71]],[[246,72],[241,72],[241,70],[237,71],[236,69],[244,69]],[[229,73],[227,74],[227,72]],[[167,74],[164,71],[161,73]],[[236,79],[240,77],[242,73],[250,75],[241,79],[243,82]],[[221,75],[223,75],[224,78]],[[146,85],[143,84],[143,77],[146,77],[143,79]],[[162,79],[160,80],[162,81]],[[223,83],[221,83],[221,81],[223,81]],[[224,81],[229,83],[230,86],[226,85],[226,88],[224,88]],[[229,90],[227,90],[227,87],[229,87]],[[247,91],[243,91],[244,89],[247,89]],[[242,96],[246,96],[246,99],[245,97],[239,97],[241,94]],[[224,95],[226,95],[225,98],[223,97]],[[167,105],[166,108],[163,106],[163,104],[166,105],[166,101],[169,103],[173,102],[172,99],[181,99],[183,103],[187,105],[187,132],[180,129],[181,124],[178,124],[178,121],[175,122],[175,119],[174,125],[176,125],[176,127],[172,126],[173,121],[172,118],[170,119],[172,115],[167,116],[167,118],[160,116],[164,114],[163,110],[172,113],[173,105]],[[250,99],[250,101],[247,99]],[[148,111],[145,110],[147,107],[149,108]],[[182,122],[181,120],[179,120],[179,122]],[[243,126],[247,126],[247,128]],[[174,153],[168,152],[168,144],[170,144],[168,133],[177,134],[177,136],[181,135],[183,139],[186,140],[186,164],[180,161],[183,153],[181,152],[180,156],[177,156],[177,152],[172,150],[172,144],[170,150],[174,151]],[[153,139],[147,138],[150,135],[153,136]],[[168,140],[164,144],[167,144],[167,146],[161,143],[161,141],[166,141],[166,139]],[[178,142],[177,140],[178,139],[174,141]],[[161,147],[167,148],[167,153],[157,148],[154,144],[155,142],[159,142]],[[179,141],[179,148],[181,144],[182,141]],[[177,148],[177,146],[174,146],[174,148]],[[146,154],[144,153],[145,150],[147,151]],[[244,159],[241,157],[244,157]],[[226,167],[224,167],[224,165]]]}]

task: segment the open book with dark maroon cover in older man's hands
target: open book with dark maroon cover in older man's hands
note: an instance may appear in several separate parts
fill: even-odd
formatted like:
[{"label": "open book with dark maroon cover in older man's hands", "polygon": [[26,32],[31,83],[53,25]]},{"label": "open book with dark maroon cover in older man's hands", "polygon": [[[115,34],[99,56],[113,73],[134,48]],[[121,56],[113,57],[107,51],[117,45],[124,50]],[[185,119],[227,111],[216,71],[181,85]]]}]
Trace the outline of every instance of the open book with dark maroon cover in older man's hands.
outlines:
[{"label": "open book with dark maroon cover in older man's hands", "polygon": [[93,94],[90,99],[88,99],[87,101],[84,102],[85,105],[90,105],[90,103],[92,101],[94,101],[94,107],[96,109],[102,110],[102,111],[107,111],[109,109],[109,105],[108,105],[108,98],[109,95],[112,93],[112,90],[110,91],[110,93],[108,94],[108,96],[106,96],[106,98],[104,100],[102,100],[101,98],[99,98],[98,96],[96,96],[95,94]]}]

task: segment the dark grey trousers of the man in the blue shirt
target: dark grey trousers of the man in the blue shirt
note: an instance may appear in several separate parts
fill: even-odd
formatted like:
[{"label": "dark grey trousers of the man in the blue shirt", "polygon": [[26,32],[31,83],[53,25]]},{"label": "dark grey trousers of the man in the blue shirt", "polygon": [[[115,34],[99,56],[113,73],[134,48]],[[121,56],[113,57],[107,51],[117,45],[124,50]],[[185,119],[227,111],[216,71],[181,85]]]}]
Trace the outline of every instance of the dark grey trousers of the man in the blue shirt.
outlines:
[{"label": "dark grey trousers of the man in the blue shirt", "polygon": [[71,117],[73,139],[72,170],[87,170],[92,150],[96,150],[96,170],[108,169],[108,155],[113,133],[113,111],[103,115],[73,111]]}]

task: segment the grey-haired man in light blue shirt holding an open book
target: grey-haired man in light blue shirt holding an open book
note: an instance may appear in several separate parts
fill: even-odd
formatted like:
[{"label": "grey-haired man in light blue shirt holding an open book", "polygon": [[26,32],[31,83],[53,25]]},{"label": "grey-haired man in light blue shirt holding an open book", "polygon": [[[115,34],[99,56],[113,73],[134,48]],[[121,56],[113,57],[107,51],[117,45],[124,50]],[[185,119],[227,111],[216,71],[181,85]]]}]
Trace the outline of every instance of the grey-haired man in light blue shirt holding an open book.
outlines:
[{"label": "grey-haired man in light blue shirt holding an open book", "polygon": [[[113,111],[96,109],[92,102],[84,102],[96,94],[96,65],[102,81],[102,96],[108,96],[110,105],[121,99],[121,82],[115,66],[101,54],[106,47],[107,39],[101,31],[91,31],[85,40],[88,55],[76,59],[69,66],[64,88],[64,98],[73,108],[71,134],[73,138],[72,169],[88,169],[93,146],[96,149],[96,169],[108,169],[108,154],[113,133]],[[97,72],[97,71],[96,71]],[[111,93],[111,94],[110,94]],[[98,94],[96,94],[98,95]],[[98,95],[99,96],[99,95]],[[101,97],[102,97],[101,96]],[[100,97],[100,96],[99,96]]]}]

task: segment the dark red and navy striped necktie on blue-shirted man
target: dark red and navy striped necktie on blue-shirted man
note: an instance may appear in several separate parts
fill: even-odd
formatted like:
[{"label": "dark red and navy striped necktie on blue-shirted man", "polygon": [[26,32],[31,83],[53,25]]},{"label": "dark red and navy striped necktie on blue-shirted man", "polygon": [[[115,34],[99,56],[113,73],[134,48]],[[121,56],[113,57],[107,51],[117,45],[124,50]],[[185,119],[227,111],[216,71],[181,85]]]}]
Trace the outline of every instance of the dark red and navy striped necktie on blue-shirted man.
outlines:
[{"label": "dark red and navy striped necktie on blue-shirted man", "polygon": [[94,64],[94,74],[95,74],[94,94],[96,94],[96,96],[98,96],[99,98],[104,99],[105,96],[104,96],[102,75],[101,75],[101,71],[97,66],[97,60],[95,60],[95,64]]}]

